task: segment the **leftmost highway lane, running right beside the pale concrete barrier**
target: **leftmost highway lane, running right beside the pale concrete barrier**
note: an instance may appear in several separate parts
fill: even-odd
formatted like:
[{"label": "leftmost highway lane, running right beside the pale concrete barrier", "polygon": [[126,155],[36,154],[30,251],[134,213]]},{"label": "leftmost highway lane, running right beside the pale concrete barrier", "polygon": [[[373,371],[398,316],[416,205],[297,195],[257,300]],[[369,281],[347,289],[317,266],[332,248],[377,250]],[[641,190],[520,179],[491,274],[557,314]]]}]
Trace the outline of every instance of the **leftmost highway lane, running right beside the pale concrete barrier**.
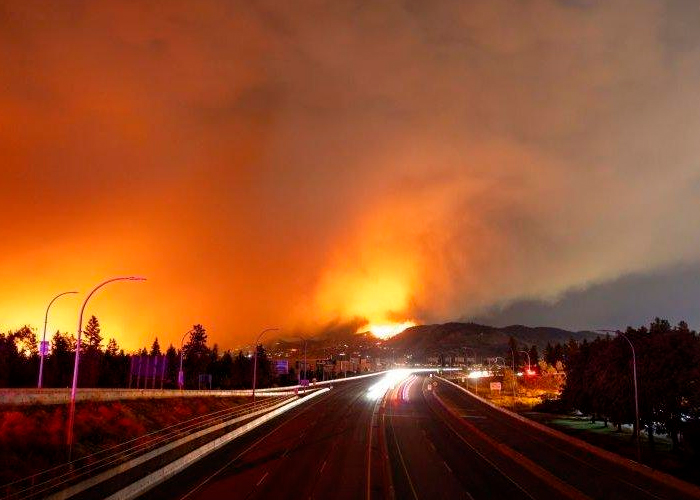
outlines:
[{"label": "leftmost highway lane, running right beside the pale concrete barrier", "polygon": [[[374,379],[374,377],[369,380]],[[314,412],[327,412],[364,381],[342,382],[307,404],[261,425],[191,465],[142,498],[248,498],[267,478],[266,468],[285,457],[314,423]],[[284,498],[286,495],[283,495]]]}]

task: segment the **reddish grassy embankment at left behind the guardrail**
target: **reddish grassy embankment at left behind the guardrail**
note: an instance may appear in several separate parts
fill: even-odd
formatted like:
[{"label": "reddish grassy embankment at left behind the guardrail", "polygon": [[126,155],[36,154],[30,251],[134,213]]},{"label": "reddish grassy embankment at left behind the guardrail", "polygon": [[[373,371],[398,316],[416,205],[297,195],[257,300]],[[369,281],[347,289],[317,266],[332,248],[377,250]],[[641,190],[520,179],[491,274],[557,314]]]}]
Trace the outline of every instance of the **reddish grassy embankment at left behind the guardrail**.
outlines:
[{"label": "reddish grassy embankment at left behind the guardrail", "polygon": [[[242,402],[233,397],[80,402],[73,458]],[[67,413],[67,405],[0,406],[0,485],[66,461]]]}]

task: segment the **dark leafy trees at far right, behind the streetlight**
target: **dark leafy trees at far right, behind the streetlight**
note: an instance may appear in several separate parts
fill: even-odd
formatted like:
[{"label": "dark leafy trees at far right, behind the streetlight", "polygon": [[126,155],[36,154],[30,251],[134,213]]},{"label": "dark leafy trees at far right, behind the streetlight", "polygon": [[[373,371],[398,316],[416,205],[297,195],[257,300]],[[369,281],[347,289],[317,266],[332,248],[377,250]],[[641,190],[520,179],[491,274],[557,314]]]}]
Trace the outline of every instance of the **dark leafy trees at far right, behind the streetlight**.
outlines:
[{"label": "dark leafy trees at far right, behind the streetlight", "polygon": [[632,349],[622,335],[571,343],[565,354],[565,407],[634,433],[667,434],[677,450],[679,435],[697,433],[700,419],[700,337],[685,322],[671,327],[656,318],[622,332],[634,346],[640,429],[635,425]]}]

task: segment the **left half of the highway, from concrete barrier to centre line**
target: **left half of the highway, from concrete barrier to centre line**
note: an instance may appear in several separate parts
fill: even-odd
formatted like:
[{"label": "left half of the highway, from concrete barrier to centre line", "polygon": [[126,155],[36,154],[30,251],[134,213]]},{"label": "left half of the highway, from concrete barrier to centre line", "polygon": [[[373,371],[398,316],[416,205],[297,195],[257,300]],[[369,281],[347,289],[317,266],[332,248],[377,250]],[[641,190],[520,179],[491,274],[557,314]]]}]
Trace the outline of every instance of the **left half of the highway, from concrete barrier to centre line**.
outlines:
[{"label": "left half of the highway, from concrete barrier to centre line", "polygon": [[[341,382],[157,486],[148,499],[383,498],[377,377]],[[374,458],[374,459],[373,459]]]}]

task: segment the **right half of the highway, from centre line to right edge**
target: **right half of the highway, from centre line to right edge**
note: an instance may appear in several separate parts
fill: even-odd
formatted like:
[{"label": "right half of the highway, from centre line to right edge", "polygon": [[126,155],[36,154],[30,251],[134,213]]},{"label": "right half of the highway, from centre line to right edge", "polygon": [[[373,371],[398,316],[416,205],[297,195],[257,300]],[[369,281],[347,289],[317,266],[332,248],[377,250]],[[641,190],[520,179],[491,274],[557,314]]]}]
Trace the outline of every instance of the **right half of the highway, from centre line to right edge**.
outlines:
[{"label": "right half of the highway, from centre line to right edge", "polygon": [[384,416],[397,498],[697,498],[418,377]]}]

